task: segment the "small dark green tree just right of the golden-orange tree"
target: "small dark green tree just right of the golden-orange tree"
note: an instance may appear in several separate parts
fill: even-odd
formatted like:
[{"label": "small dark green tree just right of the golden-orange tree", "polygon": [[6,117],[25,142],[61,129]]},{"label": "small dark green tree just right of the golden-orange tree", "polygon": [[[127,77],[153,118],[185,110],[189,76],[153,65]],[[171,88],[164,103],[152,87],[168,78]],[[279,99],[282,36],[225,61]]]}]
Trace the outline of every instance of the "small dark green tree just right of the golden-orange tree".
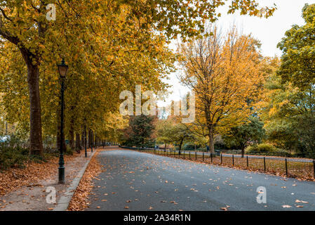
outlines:
[{"label": "small dark green tree just right of the golden-orange tree", "polygon": [[232,127],[227,134],[223,136],[224,143],[229,147],[244,150],[249,141],[260,143],[264,137],[264,123],[257,117],[249,117],[248,122],[236,127]]}]

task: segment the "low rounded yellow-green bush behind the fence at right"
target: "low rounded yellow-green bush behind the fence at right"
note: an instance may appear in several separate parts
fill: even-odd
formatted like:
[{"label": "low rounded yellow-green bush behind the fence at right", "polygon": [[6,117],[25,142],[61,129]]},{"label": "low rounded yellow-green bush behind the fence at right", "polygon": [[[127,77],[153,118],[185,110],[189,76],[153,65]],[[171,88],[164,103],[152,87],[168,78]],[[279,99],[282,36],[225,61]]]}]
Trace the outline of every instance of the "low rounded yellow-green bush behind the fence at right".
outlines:
[{"label": "low rounded yellow-green bush behind the fence at right", "polygon": [[247,155],[273,155],[273,156],[282,156],[282,157],[290,157],[290,153],[286,150],[276,148],[272,144],[269,143],[260,143],[253,146],[248,146],[245,149],[245,153]]}]

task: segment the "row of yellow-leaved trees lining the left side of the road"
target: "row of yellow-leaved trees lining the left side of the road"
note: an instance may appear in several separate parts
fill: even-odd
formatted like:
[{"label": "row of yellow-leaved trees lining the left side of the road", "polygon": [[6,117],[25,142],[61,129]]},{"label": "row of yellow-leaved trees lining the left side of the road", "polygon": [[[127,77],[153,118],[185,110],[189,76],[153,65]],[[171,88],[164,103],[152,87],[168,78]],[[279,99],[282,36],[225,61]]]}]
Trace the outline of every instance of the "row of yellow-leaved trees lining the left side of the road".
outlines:
[{"label": "row of yellow-leaved trees lining the left side of the road", "polygon": [[[56,64],[65,58],[65,129],[79,139],[84,125],[99,138],[114,139],[125,124],[117,113],[119,93],[142,84],[163,90],[173,68],[170,39],[200,37],[214,22],[211,1],[55,1],[56,20],[47,20],[48,0],[0,1],[1,114],[29,137],[32,155],[43,154],[43,136],[58,133]],[[255,1],[233,0],[229,13],[272,15]],[[75,135],[74,135],[75,134]]]}]

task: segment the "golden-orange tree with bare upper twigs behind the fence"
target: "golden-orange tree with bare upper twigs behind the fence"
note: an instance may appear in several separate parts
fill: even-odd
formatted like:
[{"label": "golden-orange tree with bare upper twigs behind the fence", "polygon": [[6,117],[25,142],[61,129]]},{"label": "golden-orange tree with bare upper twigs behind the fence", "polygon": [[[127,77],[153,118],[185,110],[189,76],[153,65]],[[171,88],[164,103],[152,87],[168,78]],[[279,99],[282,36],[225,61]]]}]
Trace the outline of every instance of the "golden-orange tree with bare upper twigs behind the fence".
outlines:
[{"label": "golden-orange tree with bare upper twigs behind the fence", "polygon": [[259,43],[232,30],[224,37],[216,27],[213,35],[180,45],[183,84],[196,93],[196,117],[192,131],[213,136],[244,122],[260,96],[264,77],[260,71]]}]

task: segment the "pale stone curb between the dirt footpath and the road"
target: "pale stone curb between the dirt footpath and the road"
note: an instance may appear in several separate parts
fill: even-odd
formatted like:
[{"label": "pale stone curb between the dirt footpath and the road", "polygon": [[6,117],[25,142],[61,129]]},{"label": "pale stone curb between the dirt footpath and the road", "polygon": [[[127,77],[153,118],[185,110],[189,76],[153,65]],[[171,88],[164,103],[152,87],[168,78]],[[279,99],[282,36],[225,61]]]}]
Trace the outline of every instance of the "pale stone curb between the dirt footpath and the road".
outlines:
[{"label": "pale stone curb between the dirt footpath and the road", "polygon": [[74,195],[74,192],[76,191],[76,188],[78,187],[84,172],[86,172],[86,168],[88,167],[88,164],[90,163],[91,159],[93,158],[96,152],[97,150],[95,150],[92,153],[92,155],[90,156],[86,164],[80,170],[79,174],[76,175],[76,178],[72,181],[72,184],[70,184],[70,186],[67,188],[67,191],[65,192],[65,194],[60,197],[58,204],[53,209],[53,211],[66,211],[68,209],[72,196]]}]

